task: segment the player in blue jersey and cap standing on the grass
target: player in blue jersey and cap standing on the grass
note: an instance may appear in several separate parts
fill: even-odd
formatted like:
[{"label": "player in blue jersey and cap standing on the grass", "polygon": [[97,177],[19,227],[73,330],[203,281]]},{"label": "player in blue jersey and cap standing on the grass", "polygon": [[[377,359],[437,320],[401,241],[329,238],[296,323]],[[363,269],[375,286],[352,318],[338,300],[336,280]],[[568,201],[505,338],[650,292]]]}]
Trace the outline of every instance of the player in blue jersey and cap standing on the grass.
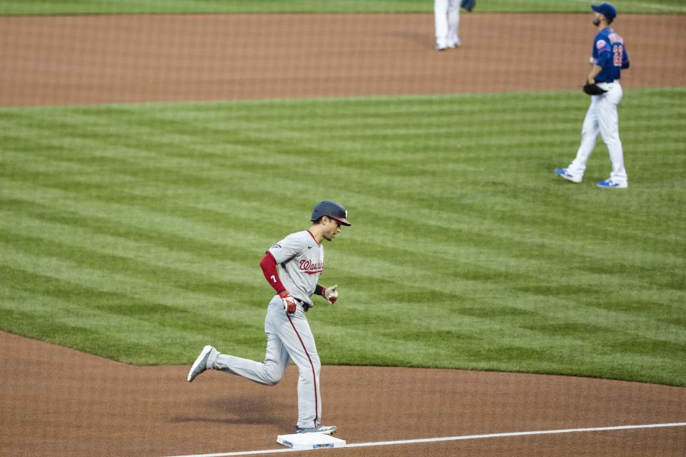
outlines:
[{"label": "player in blue jersey and cap standing on the grass", "polygon": [[580,183],[586,170],[586,161],[600,134],[610,151],[612,173],[609,179],[598,181],[597,185],[604,189],[624,189],[629,186],[629,181],[624,168],[617,105],[622,100],[620,76],[622,69],[629,68],[629,56],[622,37],[610,28],[610,24],[617,16],[615,7],[604,3],[592,5],[591,9],[595,11],[593,24],[600,29],[600,32],[593,40],[592,69],[587,76],[587,85],[597,86],[595,92],[600,94],[591,96],[591,105],[582,127],[581,146],[576,158],[566,169],[555,169],[555,174],[567,181]]}]

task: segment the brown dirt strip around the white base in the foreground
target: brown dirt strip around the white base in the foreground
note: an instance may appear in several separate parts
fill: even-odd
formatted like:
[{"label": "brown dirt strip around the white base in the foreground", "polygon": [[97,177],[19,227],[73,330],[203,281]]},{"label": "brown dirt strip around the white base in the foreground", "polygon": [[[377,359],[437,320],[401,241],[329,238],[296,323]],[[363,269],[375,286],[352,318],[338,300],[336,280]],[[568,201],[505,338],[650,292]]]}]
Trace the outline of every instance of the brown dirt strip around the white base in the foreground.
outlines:
[{"label": "brown dirt strip around the white base in the foreground", "polygon": [[[200,348],[189,348],[193,358]],[[161,457],[275,449],[297,368],[273,388],[188,366],[127,366],[0,332],[6,456]],[[686,388],[565,376],[324,366],[324,422],[349,443],[675,423]],[[327,456],[675,456],[686,428],[350,448]],[[296,453],[295,455],[299,455]],[[307,454],[309,455],[309,454]]]}]

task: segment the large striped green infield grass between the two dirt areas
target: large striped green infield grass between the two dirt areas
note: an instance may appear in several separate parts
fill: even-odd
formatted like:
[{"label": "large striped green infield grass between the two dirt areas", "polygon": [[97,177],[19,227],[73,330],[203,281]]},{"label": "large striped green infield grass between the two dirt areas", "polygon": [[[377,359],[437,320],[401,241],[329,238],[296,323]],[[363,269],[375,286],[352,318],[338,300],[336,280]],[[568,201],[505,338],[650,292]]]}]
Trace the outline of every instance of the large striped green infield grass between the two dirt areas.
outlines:
[{"label": "large striped green infield grass between the two dirt areas", "polygon": [[686,386],[686,89],[625,91],[630,188],[582,184],[580,92],[0,109],[0,328],[126,363],[261,360],[258,262],[312,206],[322,361]]}]

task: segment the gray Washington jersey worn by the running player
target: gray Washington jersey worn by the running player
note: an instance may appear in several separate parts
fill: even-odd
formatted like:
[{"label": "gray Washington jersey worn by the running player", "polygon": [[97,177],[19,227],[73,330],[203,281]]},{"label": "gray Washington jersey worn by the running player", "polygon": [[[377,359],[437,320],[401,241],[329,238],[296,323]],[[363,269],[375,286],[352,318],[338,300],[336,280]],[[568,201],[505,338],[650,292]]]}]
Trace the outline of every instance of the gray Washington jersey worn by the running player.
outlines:
[{"label": "gray Washington jersey worn by the running player", "polygon": [[279,278],[294,298],[314,306],[312,294],[324,271],[324,246],[309,231],[291,233],[269,248],[279,265]]}]

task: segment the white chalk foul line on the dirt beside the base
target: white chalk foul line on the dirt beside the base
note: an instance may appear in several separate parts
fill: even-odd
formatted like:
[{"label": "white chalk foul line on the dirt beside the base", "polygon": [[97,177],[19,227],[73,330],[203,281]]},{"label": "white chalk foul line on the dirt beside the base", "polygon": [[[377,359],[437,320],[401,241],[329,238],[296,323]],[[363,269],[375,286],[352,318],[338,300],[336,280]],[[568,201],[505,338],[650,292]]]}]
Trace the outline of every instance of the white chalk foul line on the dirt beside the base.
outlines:
[{"label": "white chalk foul line on the dirt beside the base", "polygon": [[[542,430],[542,431],[515,431],[509,433],[489,433],[488,435],[465,435],[465,436],[446,436],[443,438],[423,438],[416,440],[401,440],[401,441],[375,441],[373,443],[349,443],[345,448],[362,448],[367,446],[392,446],[394,444],[417,444],[417,443],[439,443],[442,441],[461,441],[461,440],[478,440],[484,438],[504,438],[507,436],[528,436],[528,435],[555,435],[557,433],[582,433],[590,431],[617,431],[617,430],[635,430],[637,428],[664,428],[664,427],[684,427],[686,422],[675,423],[650,423],[640,426],[616,426],[616,427],[593,427],[593,428],[566,428],[562,430]],[[189,456],[173,456],[173,457],[231,457],[231,456],[257,456],[259,454],[275,454],[282,452],[303,452],[298,449],[279,448],[279,449],[265,449],[264,451],[242,451],[242,452],[227,452],[216,454],[194,454]]]}]

